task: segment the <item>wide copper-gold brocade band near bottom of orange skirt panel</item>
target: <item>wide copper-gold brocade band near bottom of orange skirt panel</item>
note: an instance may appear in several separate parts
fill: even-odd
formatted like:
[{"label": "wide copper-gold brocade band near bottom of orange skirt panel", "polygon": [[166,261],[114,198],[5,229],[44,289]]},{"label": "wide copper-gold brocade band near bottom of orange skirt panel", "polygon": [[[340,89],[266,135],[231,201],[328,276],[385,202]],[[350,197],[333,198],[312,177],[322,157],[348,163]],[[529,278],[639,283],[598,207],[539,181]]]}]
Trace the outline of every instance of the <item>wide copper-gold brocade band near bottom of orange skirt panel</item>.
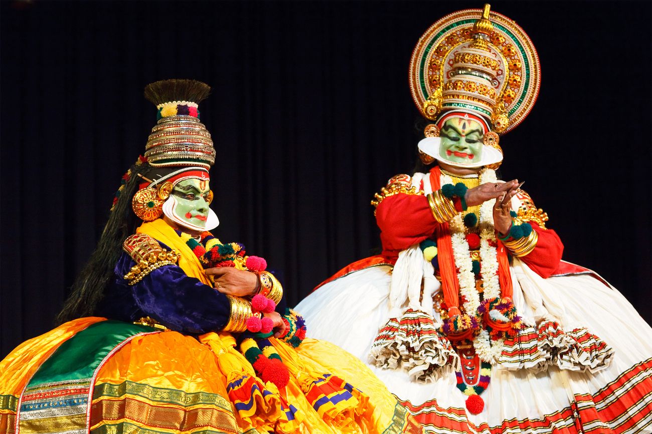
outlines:
[{"label": "wide copper-gold brocade band near bottom of orange skirt panel", "polygon": [[91,407],[91,429],[103,421],[125,420],[153,429],[194,432],[214,428],[218,432],[237,433],[235,416],[219,407],[181,409],[170,405],[151,405],[129,396],[119,400],[98,400]]}]

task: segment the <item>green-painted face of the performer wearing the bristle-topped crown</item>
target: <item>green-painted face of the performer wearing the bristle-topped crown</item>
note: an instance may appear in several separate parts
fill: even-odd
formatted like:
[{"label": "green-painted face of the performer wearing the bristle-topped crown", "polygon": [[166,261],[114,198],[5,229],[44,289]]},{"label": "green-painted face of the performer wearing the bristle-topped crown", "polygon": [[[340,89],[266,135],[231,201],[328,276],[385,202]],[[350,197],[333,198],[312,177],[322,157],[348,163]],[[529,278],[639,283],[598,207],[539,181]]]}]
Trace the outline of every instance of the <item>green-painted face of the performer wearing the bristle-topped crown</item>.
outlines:
[{"label": "green-painted face of the performer wearing the bristle-topped crown", "polygon": [[179,219],[205,227],[209,211],[209,181],[196,178],[183,180],[172,189],[177,198],[174,213]]}]

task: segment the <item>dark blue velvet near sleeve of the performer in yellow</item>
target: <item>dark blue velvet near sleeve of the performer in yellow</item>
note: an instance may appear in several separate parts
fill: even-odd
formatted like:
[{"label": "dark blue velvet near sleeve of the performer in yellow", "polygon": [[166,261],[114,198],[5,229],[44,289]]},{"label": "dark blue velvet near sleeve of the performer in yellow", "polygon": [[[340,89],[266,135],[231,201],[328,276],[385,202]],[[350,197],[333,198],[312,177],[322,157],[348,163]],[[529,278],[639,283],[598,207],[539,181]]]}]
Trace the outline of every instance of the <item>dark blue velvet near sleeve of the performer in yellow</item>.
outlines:
[{"label": "dark blue velvet near sleeve of the performer in yellow", "polygon": [[[134,260],[123,254],[116,265],[116,274],[124,276],[134,265]],[[187,333],[221,330],[230,318],[226,295],[188,277],[177,265],[157,267],[132,285],[122,277],[118,280],[122,283],[119,286],[130,292],[126,297],[132,298],[132,301],[124,300],[125,306],[120,308],[140,310],[171,330]],[[136,306],[128,306],[134,303]]]}]

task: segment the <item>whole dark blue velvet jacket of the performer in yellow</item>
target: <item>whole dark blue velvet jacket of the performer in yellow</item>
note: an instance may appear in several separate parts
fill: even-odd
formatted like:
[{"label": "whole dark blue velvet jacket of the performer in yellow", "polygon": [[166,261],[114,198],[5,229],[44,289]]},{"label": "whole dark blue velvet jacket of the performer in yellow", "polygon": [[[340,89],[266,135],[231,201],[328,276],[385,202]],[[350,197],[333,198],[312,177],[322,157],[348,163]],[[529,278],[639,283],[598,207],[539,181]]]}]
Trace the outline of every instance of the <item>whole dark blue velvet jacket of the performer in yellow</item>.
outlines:
[{"label": "whole dark blue velvet jacket of the performer in yellow", "polygon": [[[181,267],[164,265],[137,284],[128,285],[123,276],[134,265],[131,256],[123,252],[115,264],[113,282],[98,306],[98,316],[126,322],[149,316],[168,329],[186,334],[220,331],[228,323],[231,311],[226,295],[188,277]],[[283,297],[276,311],[283,314],[285,308]]]}]

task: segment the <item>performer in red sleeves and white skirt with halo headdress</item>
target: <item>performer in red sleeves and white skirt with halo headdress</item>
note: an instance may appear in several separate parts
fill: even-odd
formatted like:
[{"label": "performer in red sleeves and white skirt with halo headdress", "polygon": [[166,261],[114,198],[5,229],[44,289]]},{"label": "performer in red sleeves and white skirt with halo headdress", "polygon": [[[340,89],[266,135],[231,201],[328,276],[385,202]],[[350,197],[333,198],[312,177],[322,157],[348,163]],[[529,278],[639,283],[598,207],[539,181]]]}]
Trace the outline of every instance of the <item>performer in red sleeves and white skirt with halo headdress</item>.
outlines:
[{"label": "performer in red sleeves and white skirt with halo headdress", "polygon": [[561,260],[546,213],[496,176],[499,138],[539,92],[531,40],[489,5],[454,12],[422,35],[409,77],[432,121],[422,170],[372,201],[382,254],[299,303],[308,335],[366,361],[431,433],[649,431],[652,330]]}]

